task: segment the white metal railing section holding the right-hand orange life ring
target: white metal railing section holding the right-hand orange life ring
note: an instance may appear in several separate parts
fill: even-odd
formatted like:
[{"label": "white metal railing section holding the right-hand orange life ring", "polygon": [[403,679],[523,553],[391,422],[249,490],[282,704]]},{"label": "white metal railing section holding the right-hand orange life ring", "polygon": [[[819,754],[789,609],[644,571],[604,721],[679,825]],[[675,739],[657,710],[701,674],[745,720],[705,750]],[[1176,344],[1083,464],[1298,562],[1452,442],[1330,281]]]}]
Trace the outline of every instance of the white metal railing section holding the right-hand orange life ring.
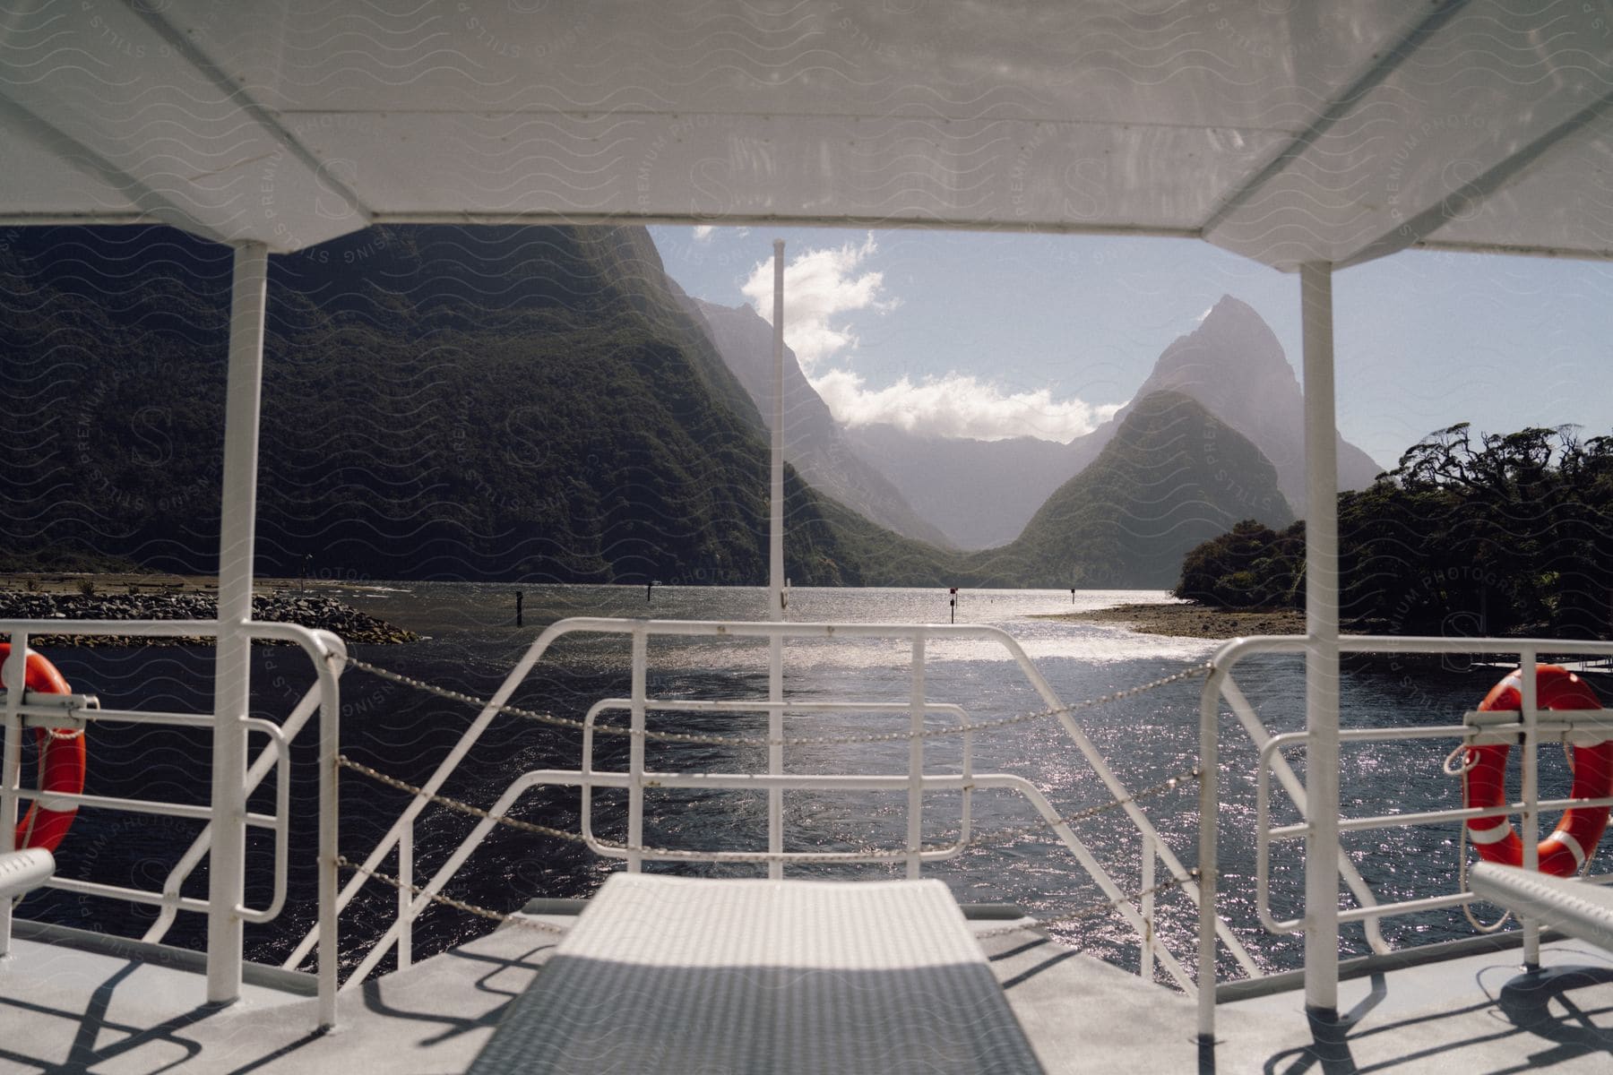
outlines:
[{"label": "white metal railing section holding the right-hand orange life ring", "polygon": [[[1334,846],[1332,856],[1339,862],[1339,877],[1355,894],[1358,906],[1340,909],[1337,901],[1323,907],[1307,906],[1297,919],[1277,920],[1269,907],[1269,848],[1273,841],[1292,841],[1313,836],[1316,833],[1315,819],[1307,807],[1305,788],[1294,769],[1282,757],[1289,746],[1307,746],[1307,766],[1332,767],[1337,770],[1339,756],[1321,756],[1311,741],[1310,732],[1287,732],[1271,735],[1255,714],[1248,698],[1232,679],[1232,669],[1239,661],[1253,654],[1266,653],[1305,653],[1310,641],[1305,637],[1258,637],[1239,638],[1223,646],[1215,659],[1213,670],[1200,693],[1200,757],[1205,769],[1200,785],[1200,872],[1202,894],[1200,930],[1198,930],[1198,1033],[1200,1038],[1211,1038],[1215,1033],[1215,977],[1216,977],[1216,930],[1215,893],[1218,869],[1218,757],[1219,757],[1219,703],[1224,699],[1248,733],[1257,748],[1255,769],[1255,906],[1261,925],[1273,933],[1292,933],[1313,925],[1318,917],[1326,917],[1334,924],[1360,922],[1368,930],[1368,941],[1376,953],[1387,946],[1379,932],[1379,922],[1389,915],[1416,914],[1442,907],[1455,907],[1476,899],[1471,891],[1457,891],[1439,896],[1418,896],[1395,903],[1379,903],[1371,886],[1355,870],[1342,848]],[[1569,806],[1613,806],[1613,796],[1595,799],[1547,799],[1539,798],[1539,759],[1537,746],[1542,740],[1558,740],[1571,743],[1600,743],[1613,738],[1613,711],[1576,709],[1576,711],[1542,711],[1537,706],[1534,669],[1542,653],[1552,656],[1608,656],[1613,654],[1613,643],[1608,641],[1557,641],[1557,640],[1503,640],[1503,638],[1398,638],[1384,635],[1344,635],[1339,638],[1342,653],[1416,653],[1416,654],[1507,654],[1516,656],[1518,666],[1526,669],[1521,677],[1521,709],[1513,712],[1478,712],[1466,711],[1463,724],[1395,727],[1395,728],[1342,728],[1337,743],[1371,743],[1371,741],[1408,741],[1424,738],[1457,738],[1466,745],[1476,743],[1521,743],[1523,790],[1519,799],[1497,807],[1460,807],[1439,811],[1418,811],[1402,814],[1378,814],[1368,817],[1339,817],[1336,832],[1371,832],[1379,828],[1402,828],[1410,825],[1465,824],[1474,817],[1521,816],[1523,857],[1526,869],[1537,869],[1537,836],[1540,811],[1566,809]],[[1303,820],[1294,825],[1269,827],[1269,795],[1271,775],[1276,774],[1279,783],[1287,790],[1289,798],[1298,809]],[[1607,877],[1589,878],[1592,882],[1613,880]],[[1526,962],[1539,962],[1539,924],[1523,922],[1523,943]]]}]

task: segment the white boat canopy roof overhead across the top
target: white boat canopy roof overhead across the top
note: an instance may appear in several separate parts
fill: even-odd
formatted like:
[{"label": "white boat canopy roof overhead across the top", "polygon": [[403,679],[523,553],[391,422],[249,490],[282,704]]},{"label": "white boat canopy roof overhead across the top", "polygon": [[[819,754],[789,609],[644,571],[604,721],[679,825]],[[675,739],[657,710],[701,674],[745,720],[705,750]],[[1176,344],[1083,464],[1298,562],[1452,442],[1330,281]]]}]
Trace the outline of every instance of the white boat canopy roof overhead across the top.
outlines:
[{"label": "white boat canopy roof overhead across the top", "polygon": [[1607,0],[5,0],[0,224],[692,221],[1613,256]]}]

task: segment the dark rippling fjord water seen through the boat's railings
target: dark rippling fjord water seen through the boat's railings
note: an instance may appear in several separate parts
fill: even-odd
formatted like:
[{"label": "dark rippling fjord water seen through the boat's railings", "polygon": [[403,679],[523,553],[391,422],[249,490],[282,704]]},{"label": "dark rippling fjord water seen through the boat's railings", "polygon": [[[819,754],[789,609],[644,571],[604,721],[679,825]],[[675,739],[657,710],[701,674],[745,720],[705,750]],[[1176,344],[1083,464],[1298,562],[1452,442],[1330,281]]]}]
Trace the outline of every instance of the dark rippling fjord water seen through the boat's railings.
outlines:
[{"label": "dark rippling fjord water seen through the boat's railings", "polygon": [[[524,595],[526,625],[515,625],[515,591]],[[355,656],[411,677],[442,683],[471,695],[494,693],[532,643],[539,630],[566,616],[645,616],[658,619],[761,619],[765,591],[755,588],[656,587],[653,600],[636,587],[513,587],[463,583],[353,585],[339,596],[387,621],[410,627],[424,641],[403,646],[355,646]],[[1168,675],[1208,658],[1218,643],[1137,635],[1115,625],[1047,619],[1073,608],[1102,608],[1123,601],[1165,601],[1165,593],[1142,591],[965,591],[958,622],[994,624],[1010,630],[1066,701],[1092,698]],[[945,622],[944,590],[795,590],[789,617],[832,622]],[[836,640],[792,643],[786,651],[786,690],[792,699],[907,701],[910,691],[908,648],[895,640]],[[974,720],[992,720],[1042,708],[1008,654],[995,643],[934,641],[927,650],[927,691],[932,701],[950,701]],[[211,691],[211,650],[60,651],[52,658],[79,690],[95,691],[103,704],[142,709],[206,709]],[[521,685],[515,703],[560,716],[581,717],[606,696],[626,696],[627,641],[606,637],[565,638]],[[758,698],[766,695],[766,645],[742,640],[652,641],[650,693],[658,698]],[[300,651],[263,648],[253,658],[255,709],[282,717],[311,682]],[[1448,724],[1474,706],[1500,670],[1490,667],[1440,667],[1410,672],[1384,666],[1350,672],[1344,683],[1344,722]],[[1297,658],[1266,658],[1240,666],[1237,675],[1273,732],[1303,727],[1303,667]],[[1157,783],[1189,769],[1198,749],[1198,680],[1177,683],[1145,696],[1107,704],[1079,714],[1086,733],[1131,788]],[[421,695],[363,672],[342,685],[344,749],[358,761],[405,780],[423,782],[473,720],[469,706]],[[652,717],[652,720],[656,720]],[[677,724],[673,724],[677,720]],[[900,730],[907,716],[815,714],[792,717],[789,735],[834,737],[871,730]],[[711,716],[663,714],[666,730],[756,735],[761,714]],[[1245,943],[1271,967],[1295,965],[1292,938],[1271,938],[1260,930],[1252,911],[1253,749],[1226,719],[1223,724],[1223,901]],[[308,859],[313,848],[313,743],[298,746],[294,799],[305,804],[294,827],[292,901],[281,920],[252,927],[252,956],[279,962],[313,920],[313,882]],[[255,737],[253,749],[261,746]],[[1440,775],[1450,743],[1373,745],[1353,748],[1344,761],[1345,812],[1381,814],[1460,804],[1457,780]],[[174,730],[98,727],[90,740],[90,791],[203,803],[206,799],[206,741]],[[765,751],[734,746],[648,746],[648,764],[668,770],[765,769]],[[1069,814],[1103,803],[1108,796],[1055,720],[1036,720],[976,741],[977,772],[1011,772],[1027,777]],[[955,770],[958,741],[934,740],[927,746],[934,770]],[[1302,756],[1295,754],[1295,762]],[[1547,762],[1555,761],[1542,753]],[[448,782],[445,793],[490,806],[523,772],[544,767],[576,767],[579,737],[518,717],[500,717]],[[624,746],[602,741],[595,766],[624,767]],[[792,772],[903,772],[907,745],[815,745],[789,754]],[[1566,777],[1563,777],[1566,785]],[[1548,785],[1550,787],[1550,785]],[[1279,803],[1282,803],[1279,795]],[[355,774],[342,778],[342,851],[363,857],[405,804],[402,793],[374,785]],[[255,806],[269,809],[258,796]],[[1145,803],[1148,816],[1176,854],[1190,867],[1195,857],[1197,785]],[[647,840],[676,848],[766,846],[765,801],[753,793],[671,793],[647,803]],[[960,796],[926,799],[926,836],[944,840],[958,825]],[[905,833],[905,793],[865,793],[831,798],[823,793],[786,796],[787,843],[792,849],[848,849],[900,846]],[[576,791],[534,790],[521,798],[515,816],[576,830]],[[1029,804],[1010,793],[974,796],[976,830],[1034,825]],[[595,793],[594,825],[606,836],[624,832],[624,798]],[[1279,820],[1292,814],[1279,809]],[[473,820],[429,809],[416,833],[416,880],[429,877],[473,827]],[[1140,838],[1124,814],[1110,811],[1074,825],[1081,840],[1116,875],[1126,891],[1140,878]],[[197,832],[197,825],[169,819],[84,811],[61,851],[61,872],[111,883],[158,888],[169,865]],[[1457,862],[1457,827],[1368,833],[1347,843],[1350,854],[1373,880],[1382,899],[1450,891]],[[268,843],[253,840],[253,904],[268,899],[263,882]],[[389,872],[395,862],[387,862]],[[516,909],[531,896],[586,896],[594,891],[613,861],[597,861],[576,845],[500,828],[455,877],[448,893],[497,909]],[[681,872],[755,875],[761,867],[660,867]],[[882,877],[894,867],[803,867],[802,875]],[[1300,888],[1297,848],[1274,854],[1279,915],[1292,907]],[[1047,830],[971,846],[952,862],[926,870],[952,885],[961,901],[1015,903],[1040,915],[1060,915],[1102,901],[1098,886]],[[1165,877],[1163,867],[1160,877]],[[205,893],[205,869],[185,890]],[[344,949],[348,959],[376,936],[395,912],[395,896],[371,885],[366,896],[344,915]],[[31,898],[24,914],[92,928],[144,932],[152,914],[102,899],[45,893]],[[1192,951],[1194,912],[1179,894],[1160,898],[1161,933],[1173,951]],[[184,914],[169,940],[200,944],[202,920]],[[418,951],[436,951],[487,925],[452,911],[432,911],[416,927]],[[1055,930],[1061,940],[1124,965],[1136,965],[1136,944],[1118,919],[1095,917]],[[1460,912],[1439,912],[1386,924],[1397,941],[1466,935]],[[1347,941],[1365,951],[1360,932],[1347,928]]]}]

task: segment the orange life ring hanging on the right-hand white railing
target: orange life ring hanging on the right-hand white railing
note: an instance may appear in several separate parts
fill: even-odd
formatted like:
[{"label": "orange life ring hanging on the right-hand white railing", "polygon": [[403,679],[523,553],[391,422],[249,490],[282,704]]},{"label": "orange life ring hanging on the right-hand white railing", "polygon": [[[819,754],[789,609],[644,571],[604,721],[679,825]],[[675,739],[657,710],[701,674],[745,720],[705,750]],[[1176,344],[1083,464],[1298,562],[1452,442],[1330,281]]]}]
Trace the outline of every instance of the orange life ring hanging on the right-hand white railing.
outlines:
[{"label": "orange life ring hanging on the right-hand white railing", "polygon": [[[1557,664],[1536,666],[1536,691],[1540,709],[1600,709],[1602,701],[1590,685]],[[1479,709],[1521,711],[1521,674],[1513,672],[1490,688]],[[1468,807],[1494,807],[1507,804],[1507,743],[1468,746],[1466,774],[1461,782],[1461,803]],[[1576,799],[1598,799],[1613,795],[1613,740],[1595,746],[1574,749]],[[1557,877],[1573,877],[1595,851],[1602,832],[1608,827],[1607,806],[1581,806],[1563,812],[1563,820],[1550,836],[1540,841],[1540,872]],[[1503,817],[1468,819],[1468,840],[1486,862],[1523,865],[1523,840]]]}]

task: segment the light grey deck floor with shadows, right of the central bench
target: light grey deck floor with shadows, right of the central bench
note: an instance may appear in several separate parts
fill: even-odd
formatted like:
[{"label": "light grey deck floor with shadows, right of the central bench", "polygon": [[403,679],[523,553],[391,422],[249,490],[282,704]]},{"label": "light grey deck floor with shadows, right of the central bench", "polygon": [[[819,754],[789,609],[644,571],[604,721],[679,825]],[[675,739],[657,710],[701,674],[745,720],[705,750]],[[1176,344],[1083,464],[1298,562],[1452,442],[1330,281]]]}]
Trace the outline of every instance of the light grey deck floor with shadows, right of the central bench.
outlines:
[{"label": "light grey deck floor with shadows, right of the central bench", "polygon": [[1339,985],[1344,1019],[1313,1027],[1303,993],[1223,1002],[1215,1054],[1195,1004],[1024,933],[982,941],[1048,1072],[1608,1072],[1613,957],[1578,941],[1382,970]]}]

